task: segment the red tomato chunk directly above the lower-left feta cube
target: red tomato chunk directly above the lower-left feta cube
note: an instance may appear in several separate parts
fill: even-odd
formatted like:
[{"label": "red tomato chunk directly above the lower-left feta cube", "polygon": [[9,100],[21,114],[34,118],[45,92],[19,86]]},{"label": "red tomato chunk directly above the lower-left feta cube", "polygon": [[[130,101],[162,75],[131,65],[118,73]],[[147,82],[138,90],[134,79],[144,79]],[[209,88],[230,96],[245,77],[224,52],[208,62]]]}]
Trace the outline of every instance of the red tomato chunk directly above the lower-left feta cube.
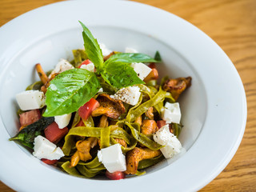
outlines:
[{"label": "red tomato chunk directly above the lower-left feta cube", "polygon": [[67,127],[59,129],[56,122],[51,123],[50,126],[47,126],[45,129],[46,138],[50,142],[54,143],[58,143],[67,134],[67,132],[69,132]]}]

